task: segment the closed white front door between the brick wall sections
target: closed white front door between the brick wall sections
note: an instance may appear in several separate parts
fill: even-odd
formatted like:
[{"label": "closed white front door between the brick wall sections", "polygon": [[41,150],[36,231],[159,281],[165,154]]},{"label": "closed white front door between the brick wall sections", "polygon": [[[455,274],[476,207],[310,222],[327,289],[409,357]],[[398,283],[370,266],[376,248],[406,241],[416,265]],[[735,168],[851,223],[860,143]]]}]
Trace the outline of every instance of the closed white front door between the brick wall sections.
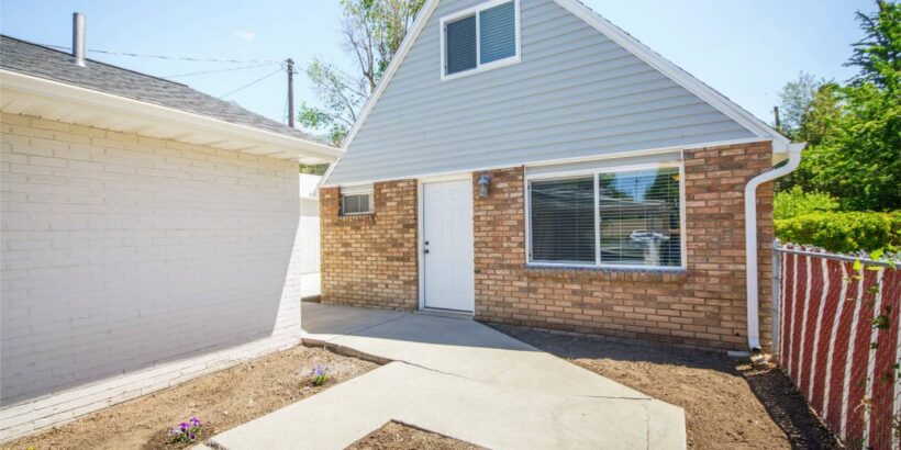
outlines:
[{"label": "closed white front door between the brick wall sections", "polygon": [[472,184],[469,180],[422,185],[423,306],[475,311]]}]

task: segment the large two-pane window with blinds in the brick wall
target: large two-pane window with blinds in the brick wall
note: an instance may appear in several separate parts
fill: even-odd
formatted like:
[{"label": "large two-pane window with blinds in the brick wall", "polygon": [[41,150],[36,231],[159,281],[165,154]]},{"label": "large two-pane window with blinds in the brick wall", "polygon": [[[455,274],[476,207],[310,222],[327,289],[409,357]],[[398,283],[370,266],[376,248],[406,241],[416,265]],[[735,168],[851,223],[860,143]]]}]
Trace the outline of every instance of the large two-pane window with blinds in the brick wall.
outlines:
[{"label": "large two-pane window with blinds in the brick wall", "polygon": [[529,179],[529,261],[683,268],[680,166]]}]

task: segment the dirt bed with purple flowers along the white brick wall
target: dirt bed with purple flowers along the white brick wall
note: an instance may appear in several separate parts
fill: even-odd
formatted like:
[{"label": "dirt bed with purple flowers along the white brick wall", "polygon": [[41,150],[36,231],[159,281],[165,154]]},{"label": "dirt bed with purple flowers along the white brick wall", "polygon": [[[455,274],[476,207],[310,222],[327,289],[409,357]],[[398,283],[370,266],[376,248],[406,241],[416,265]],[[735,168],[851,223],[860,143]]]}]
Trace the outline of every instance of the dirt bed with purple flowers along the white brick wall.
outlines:
[{"label": "dirt bed with purple flowers along the white brick wall", "polygon": [[[329,381],[312,386],[315,365]],[[115,405],[78,420],[3,445],[3,449],[176,449],[168,429],[196,416],[203,438],[366,373],[377,365],[321,348],[298,346]]]}]

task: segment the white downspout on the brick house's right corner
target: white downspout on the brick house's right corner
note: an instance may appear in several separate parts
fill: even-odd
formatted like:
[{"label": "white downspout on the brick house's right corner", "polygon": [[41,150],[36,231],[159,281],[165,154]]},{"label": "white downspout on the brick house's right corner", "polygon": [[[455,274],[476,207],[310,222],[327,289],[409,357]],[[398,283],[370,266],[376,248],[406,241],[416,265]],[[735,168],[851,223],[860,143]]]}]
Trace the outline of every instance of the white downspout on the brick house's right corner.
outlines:
[{"label": "white downspout on the brick house's right corner", "polygon": [[757,187],[787,176],[801,164],[807,143],[789,144],[789,160],[785,166],[750,179],[745,185],[745,280],[747,280],[747,344],[752,351],[760,350],[760,318],[757,272]]}]

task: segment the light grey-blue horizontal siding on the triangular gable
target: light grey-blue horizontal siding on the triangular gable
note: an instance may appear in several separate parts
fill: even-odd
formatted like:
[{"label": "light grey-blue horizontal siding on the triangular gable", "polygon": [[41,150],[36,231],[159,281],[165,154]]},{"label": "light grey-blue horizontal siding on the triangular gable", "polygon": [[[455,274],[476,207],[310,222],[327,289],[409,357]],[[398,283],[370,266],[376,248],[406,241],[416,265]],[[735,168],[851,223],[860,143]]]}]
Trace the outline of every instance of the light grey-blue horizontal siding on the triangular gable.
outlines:
[{"label": "light grey-blue horizontal siding on the triangular gable", "polygon": [[329,185],[753,138],[554,0],[520,0],[521,61],[442,80],[442,0]]}]

